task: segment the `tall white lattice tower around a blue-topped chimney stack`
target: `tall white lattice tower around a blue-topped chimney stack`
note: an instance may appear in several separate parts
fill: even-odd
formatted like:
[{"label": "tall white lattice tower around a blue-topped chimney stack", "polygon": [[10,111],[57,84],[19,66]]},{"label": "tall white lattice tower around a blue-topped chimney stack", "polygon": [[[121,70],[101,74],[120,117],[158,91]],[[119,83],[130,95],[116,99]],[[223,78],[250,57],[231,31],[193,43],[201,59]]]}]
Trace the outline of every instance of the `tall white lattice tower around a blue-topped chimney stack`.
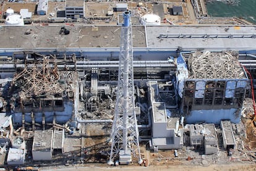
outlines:
[{"label": "tall white lattice tower around a blue-topped chimney stack", "polygon": [[[134,69],[132,66],[132,27],[130,25],[130,11],[123,13],[124,23],[121,30],[121,44],[119,53],[119,70],[114,109],[114,122],[111,131],[111,152],[109,165],[114,161],[129,164],[132,154],[142,163],[139,147],[139,130],[135,114],[134,102]],[[119,157],[119,159],[117,158]]]}]

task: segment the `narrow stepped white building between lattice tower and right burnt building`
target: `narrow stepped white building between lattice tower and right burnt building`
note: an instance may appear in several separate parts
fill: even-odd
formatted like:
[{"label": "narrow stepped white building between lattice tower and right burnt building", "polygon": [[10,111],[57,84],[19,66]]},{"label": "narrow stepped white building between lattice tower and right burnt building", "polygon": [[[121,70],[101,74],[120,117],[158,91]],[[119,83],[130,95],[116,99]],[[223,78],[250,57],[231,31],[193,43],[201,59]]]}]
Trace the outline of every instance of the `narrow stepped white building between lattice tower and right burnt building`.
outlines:
[{"label": "narrow stepped white building between lattice tower and right burnt building", "polygon": [[158,149],[181,149],[183,147],[183,130],[179,129],[179,117],[168,114],[165,102],[160,102],[161,94],[157,81],[149,82],[149,90],[152,107],[150,148],[154,151],[158,151]]}]

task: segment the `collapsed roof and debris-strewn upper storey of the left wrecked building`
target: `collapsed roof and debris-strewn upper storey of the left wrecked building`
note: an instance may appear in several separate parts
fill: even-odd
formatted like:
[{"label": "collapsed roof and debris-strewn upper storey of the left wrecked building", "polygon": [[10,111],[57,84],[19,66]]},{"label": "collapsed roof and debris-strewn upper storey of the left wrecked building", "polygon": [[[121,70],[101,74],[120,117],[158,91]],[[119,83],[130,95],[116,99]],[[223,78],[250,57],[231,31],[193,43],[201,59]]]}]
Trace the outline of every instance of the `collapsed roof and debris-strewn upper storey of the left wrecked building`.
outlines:
[{"label": "collapsed roof and debris-strewn upper storey of the left wrecked building", "polygon": [[31,101],[43,98],[72,96],[74,74],[59,71],[54,57],[43,56],[41,60],[27,62],[12,80],[12,98],[15,101]]}]

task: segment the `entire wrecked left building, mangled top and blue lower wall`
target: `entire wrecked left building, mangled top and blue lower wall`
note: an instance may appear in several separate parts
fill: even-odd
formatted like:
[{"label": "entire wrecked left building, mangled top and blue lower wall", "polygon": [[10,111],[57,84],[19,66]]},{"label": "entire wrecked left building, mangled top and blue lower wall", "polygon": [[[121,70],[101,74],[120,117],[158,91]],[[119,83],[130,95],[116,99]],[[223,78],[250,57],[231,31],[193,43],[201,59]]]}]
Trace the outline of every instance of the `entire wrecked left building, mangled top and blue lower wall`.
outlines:
[{"label": "entire wrecked left building, mangled top and blue lower wall", "polygon": [[74,90],[77,88],[75,71],[59,70],[54,56],[32,59],[27,54],[23,67],[11,82],[10,106],[15,125],[35,124],[45,129],[46,123],[66,123],[74,120]]}]

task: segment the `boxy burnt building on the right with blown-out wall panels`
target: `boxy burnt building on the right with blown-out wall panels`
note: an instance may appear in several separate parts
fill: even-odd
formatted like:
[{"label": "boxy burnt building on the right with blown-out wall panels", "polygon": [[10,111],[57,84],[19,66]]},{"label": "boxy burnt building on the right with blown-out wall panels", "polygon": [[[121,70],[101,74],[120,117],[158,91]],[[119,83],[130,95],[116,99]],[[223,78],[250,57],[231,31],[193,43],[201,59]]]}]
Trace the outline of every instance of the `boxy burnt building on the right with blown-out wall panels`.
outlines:
[{"label": "boxy burnt building on the right with blown-out wall panels", "polygon": [[238,54],[206,51],[186,55],[187,72],[184,69],[178,77],[184,78],[179,93],[187,123],[220,123],[224,119],[239,123],[248,78],[237,60]]}]

